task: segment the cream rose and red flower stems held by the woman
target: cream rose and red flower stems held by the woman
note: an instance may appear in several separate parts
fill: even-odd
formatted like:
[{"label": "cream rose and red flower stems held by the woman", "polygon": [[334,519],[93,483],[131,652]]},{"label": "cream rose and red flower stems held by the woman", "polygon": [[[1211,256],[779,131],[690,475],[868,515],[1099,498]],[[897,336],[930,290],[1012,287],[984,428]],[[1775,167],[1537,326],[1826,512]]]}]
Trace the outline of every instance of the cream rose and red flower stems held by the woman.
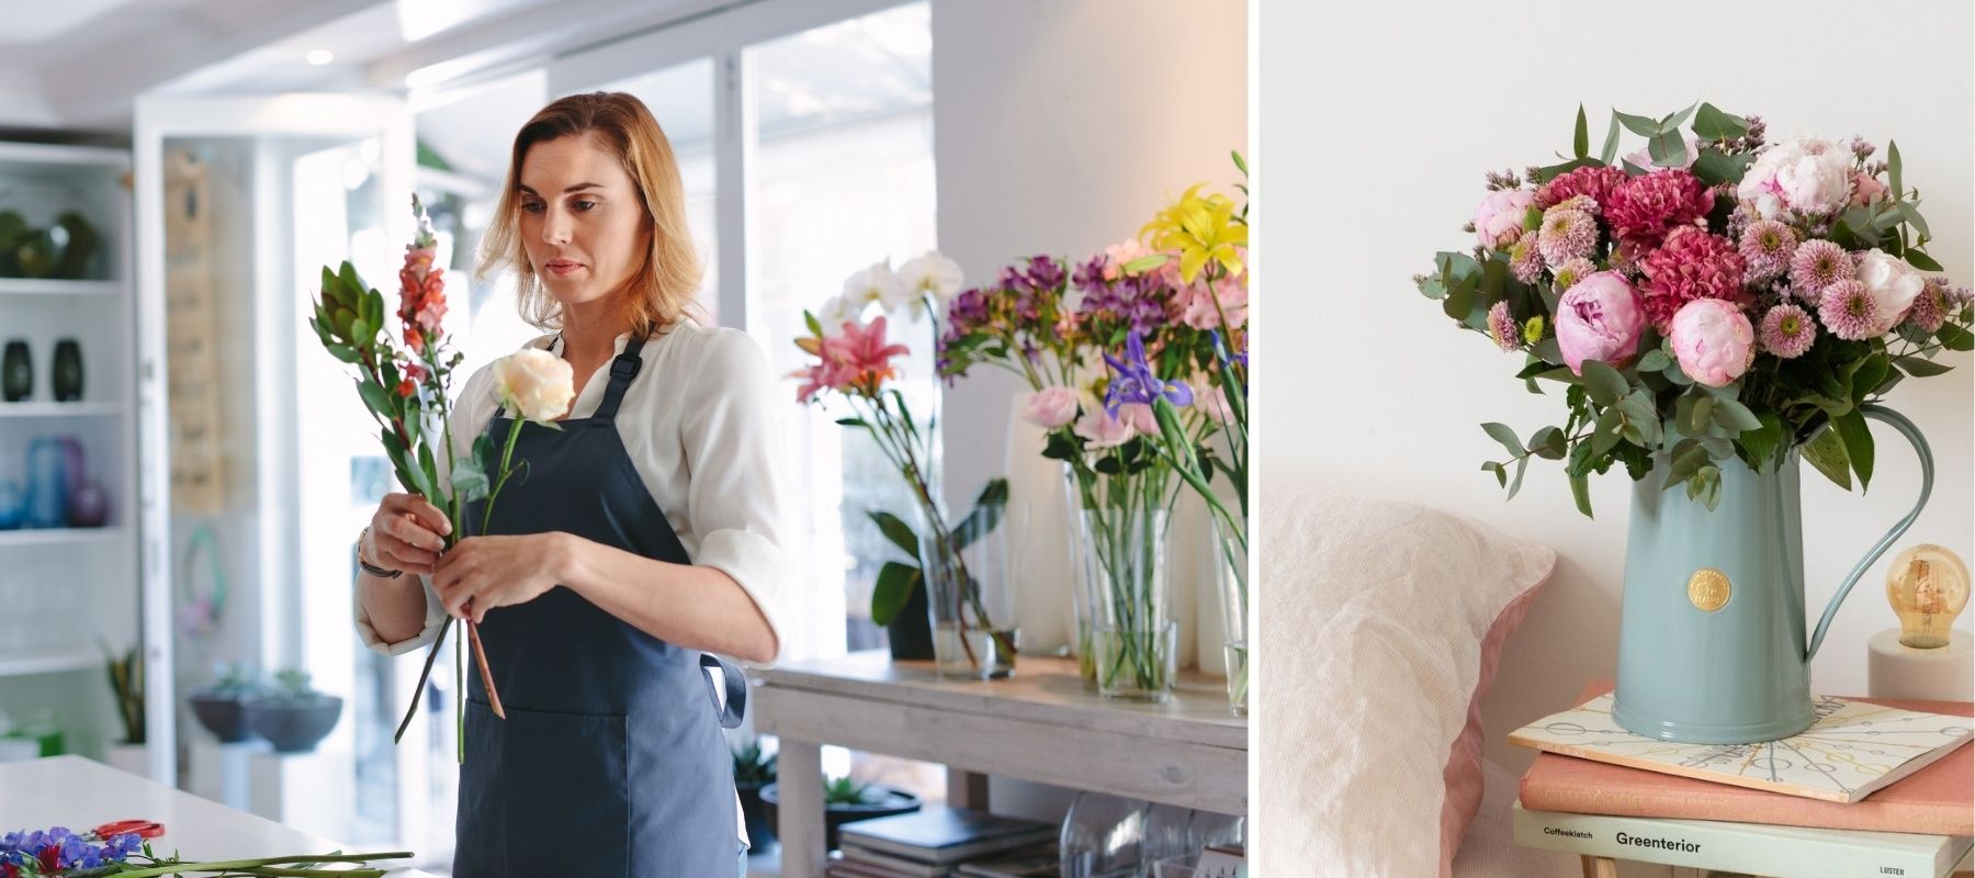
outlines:
[{"label": "cream rose and red flower stems held by the woman", "polygon": [[[419,220],[419,233],[405,247],[405,265],[399,269],[397,318],[403,346],[393,344],[385,332],[383,295],[365,287],[348,261],[336,271],[322,269],[322,299],[314,303],[316,316],[308,324],[330,356],[356,366],[357,395],[363,397],[363,407],[381,429],[379,441],[391,459],[397,481],[446,512],[452,528],[444,542],[450,550],[466,534],[466,504],[488,498],[486,514],[492,516],[492,500],[500,496],[500,486],[515,475],[514,445],[521,423],[533,421],[561,429],[553,419],[569,407],[569,399],[575,395],[573,376],[567,362],[541,350],[523,350],[496,362],[496,394],[510,409],[517,411],[508,445],[498,465],[486,435],[474,441],[472,457],[454,459],[450,388],[452,370],[464,354],[452,350],[442,324],[446,314],[444,269],[433,265],[438,255],[438,239],[417,196],[411,200],[411,210]],[[448,463],[444,471],[450,473],[448,479],[440,475],[440,459]],[[486,532],[486,520],[482,520],[480,532]],[[450,627],[452,619],[448,617],[425,657],[419,686],[413,690],[411,706],[405,710],[405,720],[399,722],[393,742],[403,738],[405,728],[411,726],[411,718],[419,710],[419,696],[425,692],[425,680],[433,672],[433,660],[438,657]],[[488,690],[494,714],[506,718],[500,692],[488,670],[478,625],[466,623],[466,633],[474,645],[480,682]],[[458,655],[458,641],[454,641],[454,653]],[[458,660],[456,666],[464,672],[466,662]],[[464,759],[466,736],[462,734],[458,740],[460,759]]]}]

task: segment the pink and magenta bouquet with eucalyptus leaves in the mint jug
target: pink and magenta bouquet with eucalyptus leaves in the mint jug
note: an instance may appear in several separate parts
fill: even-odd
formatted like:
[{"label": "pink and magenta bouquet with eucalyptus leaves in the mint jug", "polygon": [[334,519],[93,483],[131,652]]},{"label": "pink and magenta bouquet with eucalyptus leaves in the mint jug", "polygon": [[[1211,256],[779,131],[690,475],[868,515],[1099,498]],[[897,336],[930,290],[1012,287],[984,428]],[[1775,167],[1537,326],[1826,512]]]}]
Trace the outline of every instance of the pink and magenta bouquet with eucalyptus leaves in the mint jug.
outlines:
[{"label": "pink and magenta bouquet with eucalyptus leaves in the mint jug", "polygon": [[[1618,158],[1620,129],[1647,148]],[[1566,386],[1562,427],[1525,443],[1483,425],[1509,453],[1483,465],[1509,496],[1531,457],[1562,459],[1590,516],[1592,473],[1620,463],[1639,481],[1665,459],[1665,486],[1714,508],[1730,459],[1762,471],[1799,447],[1833,483],[1864,484],[1860,405],[1975,348],[1971,297],[1932,275],[1898,146],[1874,160],[1862,138],[1764,134],[1706,103],[1614,113],[1594,156],[1580,107],[1572,158],[1489,174],[1473,251],[1414,279],[1458,326],[1521,354],[1531,392]]]}]

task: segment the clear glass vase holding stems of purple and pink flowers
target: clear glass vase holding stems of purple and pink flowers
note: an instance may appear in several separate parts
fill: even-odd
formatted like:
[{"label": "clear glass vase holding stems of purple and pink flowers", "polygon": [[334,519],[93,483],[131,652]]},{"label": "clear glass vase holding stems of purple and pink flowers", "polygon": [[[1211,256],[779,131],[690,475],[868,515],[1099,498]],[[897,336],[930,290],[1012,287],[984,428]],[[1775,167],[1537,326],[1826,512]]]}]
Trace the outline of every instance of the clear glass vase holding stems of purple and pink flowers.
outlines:
[{"label": "clear glass vase holding stems of purple and pink flowers", "polygon": [[1173,475],[1163,465],[1104,475],[1074,469],[1082,585],[1098,692],[1165,702],[1173,692],[1179,625],[1171,619],[1165,536]]}]

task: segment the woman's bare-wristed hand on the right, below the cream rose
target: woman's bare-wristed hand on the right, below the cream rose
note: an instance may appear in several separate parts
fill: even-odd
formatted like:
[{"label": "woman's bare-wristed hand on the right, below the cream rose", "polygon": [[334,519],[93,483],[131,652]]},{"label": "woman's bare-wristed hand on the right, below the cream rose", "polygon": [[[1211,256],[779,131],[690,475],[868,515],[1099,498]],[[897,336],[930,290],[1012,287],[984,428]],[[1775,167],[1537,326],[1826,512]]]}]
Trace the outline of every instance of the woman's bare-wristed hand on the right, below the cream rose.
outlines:
[{"label": "woman's bare-wristed hand on the right, below the cream rose", "polygon": [[438,556],[433,591],[446,615],[478,625],[490,609],[533,601],[563,579],[565,536],[468,536]]}]

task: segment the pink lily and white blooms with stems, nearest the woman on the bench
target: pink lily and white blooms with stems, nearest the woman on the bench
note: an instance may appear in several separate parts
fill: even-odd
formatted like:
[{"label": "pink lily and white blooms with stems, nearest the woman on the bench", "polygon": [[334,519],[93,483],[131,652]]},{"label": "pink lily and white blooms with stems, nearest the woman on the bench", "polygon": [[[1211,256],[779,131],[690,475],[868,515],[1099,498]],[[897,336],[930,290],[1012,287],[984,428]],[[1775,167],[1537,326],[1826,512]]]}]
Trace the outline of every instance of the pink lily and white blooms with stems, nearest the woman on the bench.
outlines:
[{"label": "pink lily and white blooms with stems, nearest the woman on the bench", "polygon": [[[964,548],[999,524],[1001,508],[1007,502],[1007,481],[989,481],[974,510],[958,524],[950,524],[930,471],[936,419],[912,417],[905,394],[887,386],[897,376],[893,358],[910,350],[905,344],[887,344],[883,312],[910,308],[912,318],[936,312],[942,303],[954,297],[960,283],[960,265],[940,253],[910,259],[899,271],[893,271],[891,263],[885,261],[853,273],[843,283],[843,295],[824,305],[822,316],[802,314],[810,334],[798,338],[796,346],[816,360],[790,378],[802,378],[796,401],[816,403],[824,392],[843,399],[853,413],[837,423],[869,433],[885,459],[907,481],[918,504],[924,534],[914,532],[897,514],[869,512],[879,530],[918,562],[916,566],[887,562],[879,568],[871,591],[871,621],[891,625],[905,609],[912,589],[922,583],[930,589],[934,583],[928,579],[944,577],[958,585],[958,605],[942,617],[952,617],[956,627],[952,639],[958,641],[968,666],[984,666],[984,658],[974,653],[974,643],[986,635],[986,643],[995,653],[986,664],[1007,668],[1017,655],[1015,635],[1007,629],[1009,619],[995,623],[982,599],[980,579],[966,570],[962,558]],[[883,312],[865,322],[865,312],[871,307],[879,307]],[[928,597],[938,601],[938,595]],[[936,639],[936,645],[940,643],[944,639]]]}]

